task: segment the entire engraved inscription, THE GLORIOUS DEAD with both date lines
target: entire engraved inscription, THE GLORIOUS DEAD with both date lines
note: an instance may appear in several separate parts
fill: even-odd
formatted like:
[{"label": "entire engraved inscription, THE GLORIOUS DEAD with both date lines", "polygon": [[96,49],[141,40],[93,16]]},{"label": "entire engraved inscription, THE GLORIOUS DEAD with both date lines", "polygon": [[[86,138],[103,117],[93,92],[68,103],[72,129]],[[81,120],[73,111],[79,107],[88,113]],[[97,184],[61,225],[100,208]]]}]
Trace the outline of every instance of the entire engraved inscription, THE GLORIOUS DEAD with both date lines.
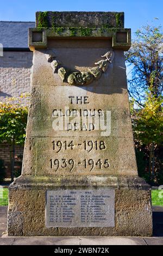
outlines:
[{"label": "entire engraved inscription, THE GLORIOUS DEAD with both date lines", "polygon": [[[110,145],[106,137],[110,130],[107,123],[109,111],[94,105],[89,107],[91,101],[91,97],[74,91],[66,95],[65,108],[55,101],[51,109],[55,132],[48,139],[37,139],[37,175],[43,170],[51,176],[90,175],[90,172],[91,175],[110,174],[114,165],[110,162]],[[92,132],[96,133],[96,138]]]}]

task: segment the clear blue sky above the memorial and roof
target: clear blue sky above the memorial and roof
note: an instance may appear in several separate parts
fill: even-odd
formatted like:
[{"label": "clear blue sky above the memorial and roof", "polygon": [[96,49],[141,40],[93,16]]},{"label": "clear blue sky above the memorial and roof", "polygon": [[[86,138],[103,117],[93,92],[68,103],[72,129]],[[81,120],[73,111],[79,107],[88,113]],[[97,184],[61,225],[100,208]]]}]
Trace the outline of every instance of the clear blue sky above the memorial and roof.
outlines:
[{"label": "clear blue sky above the memorial and roof", "polygon": [[0,20],[35,21],[36,11],[124,11],[125,27],[136,29],[151,22],[163,23],[161,0],[1,0]]}]

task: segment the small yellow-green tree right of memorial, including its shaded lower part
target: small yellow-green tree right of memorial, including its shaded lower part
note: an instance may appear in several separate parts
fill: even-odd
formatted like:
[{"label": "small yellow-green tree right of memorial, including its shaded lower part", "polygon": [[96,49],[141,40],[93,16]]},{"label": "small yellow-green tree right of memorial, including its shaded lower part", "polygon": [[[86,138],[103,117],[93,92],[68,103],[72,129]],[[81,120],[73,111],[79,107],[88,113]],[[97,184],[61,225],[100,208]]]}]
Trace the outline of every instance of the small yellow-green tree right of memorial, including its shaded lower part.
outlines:
[{"label": "small yellow-green tree right of memorial, including its shaded lower part", "polygon": [[[160,109],[162,103],[163,100],[161,96],[155,97],[152,93],[147,93],[147,98],[144,102],[143,108],[134,109],[133,104],[131,107],[139,174],[142,174],[148,182],[151,179],[152,183],[154,183],[154,177],[156,177],[156,181],[158,182],[159,179],[161,181],[161,176],[163,175],[162,162],[160,159],[155,159],[154,154],[154,152],[158,152],[159,147],[162,147],[163,142],[163,113],[162,108]],[[143,152],[146,154],[147,149],[149,154],[148,175],[142,171],[142,167],[139,164],[139,162],[141,162]],[[158,174],[159,168],[160,174]]]}]

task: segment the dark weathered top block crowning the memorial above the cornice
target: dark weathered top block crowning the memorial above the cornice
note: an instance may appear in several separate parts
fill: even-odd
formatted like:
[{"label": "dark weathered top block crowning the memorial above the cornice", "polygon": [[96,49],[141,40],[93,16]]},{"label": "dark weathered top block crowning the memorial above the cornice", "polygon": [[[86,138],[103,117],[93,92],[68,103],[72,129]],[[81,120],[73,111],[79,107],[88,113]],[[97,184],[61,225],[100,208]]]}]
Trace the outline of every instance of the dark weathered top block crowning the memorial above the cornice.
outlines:
[{"label": "dark weathered top block crowning the memorial above the cornice", "polygon": [[[42,19],[45,14],[45,19]],[[36,12],[36,27],[124,27],[124,13],[114,11],[47,11]],[[44,24],[43,24],[44,23]]]}]

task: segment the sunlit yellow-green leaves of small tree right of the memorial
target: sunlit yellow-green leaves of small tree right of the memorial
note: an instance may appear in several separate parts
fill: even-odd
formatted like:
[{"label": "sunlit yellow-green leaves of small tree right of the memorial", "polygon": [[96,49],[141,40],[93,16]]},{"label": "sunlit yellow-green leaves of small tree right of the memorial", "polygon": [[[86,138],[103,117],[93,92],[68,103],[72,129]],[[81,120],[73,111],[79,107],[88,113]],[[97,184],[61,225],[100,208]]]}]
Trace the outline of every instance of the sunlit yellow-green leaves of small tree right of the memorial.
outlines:
[{"label": "sunlit yellow-green leaves of small tree right of the memorial", "polygon": [[152,93],[147,93],[144,107],[134,109],[134,100],[131,106],[133,117],[133,132],[135,140],[141,145],[161,145],[163,134],[163,113],[161,105],[162,96],[156,97]]}]

